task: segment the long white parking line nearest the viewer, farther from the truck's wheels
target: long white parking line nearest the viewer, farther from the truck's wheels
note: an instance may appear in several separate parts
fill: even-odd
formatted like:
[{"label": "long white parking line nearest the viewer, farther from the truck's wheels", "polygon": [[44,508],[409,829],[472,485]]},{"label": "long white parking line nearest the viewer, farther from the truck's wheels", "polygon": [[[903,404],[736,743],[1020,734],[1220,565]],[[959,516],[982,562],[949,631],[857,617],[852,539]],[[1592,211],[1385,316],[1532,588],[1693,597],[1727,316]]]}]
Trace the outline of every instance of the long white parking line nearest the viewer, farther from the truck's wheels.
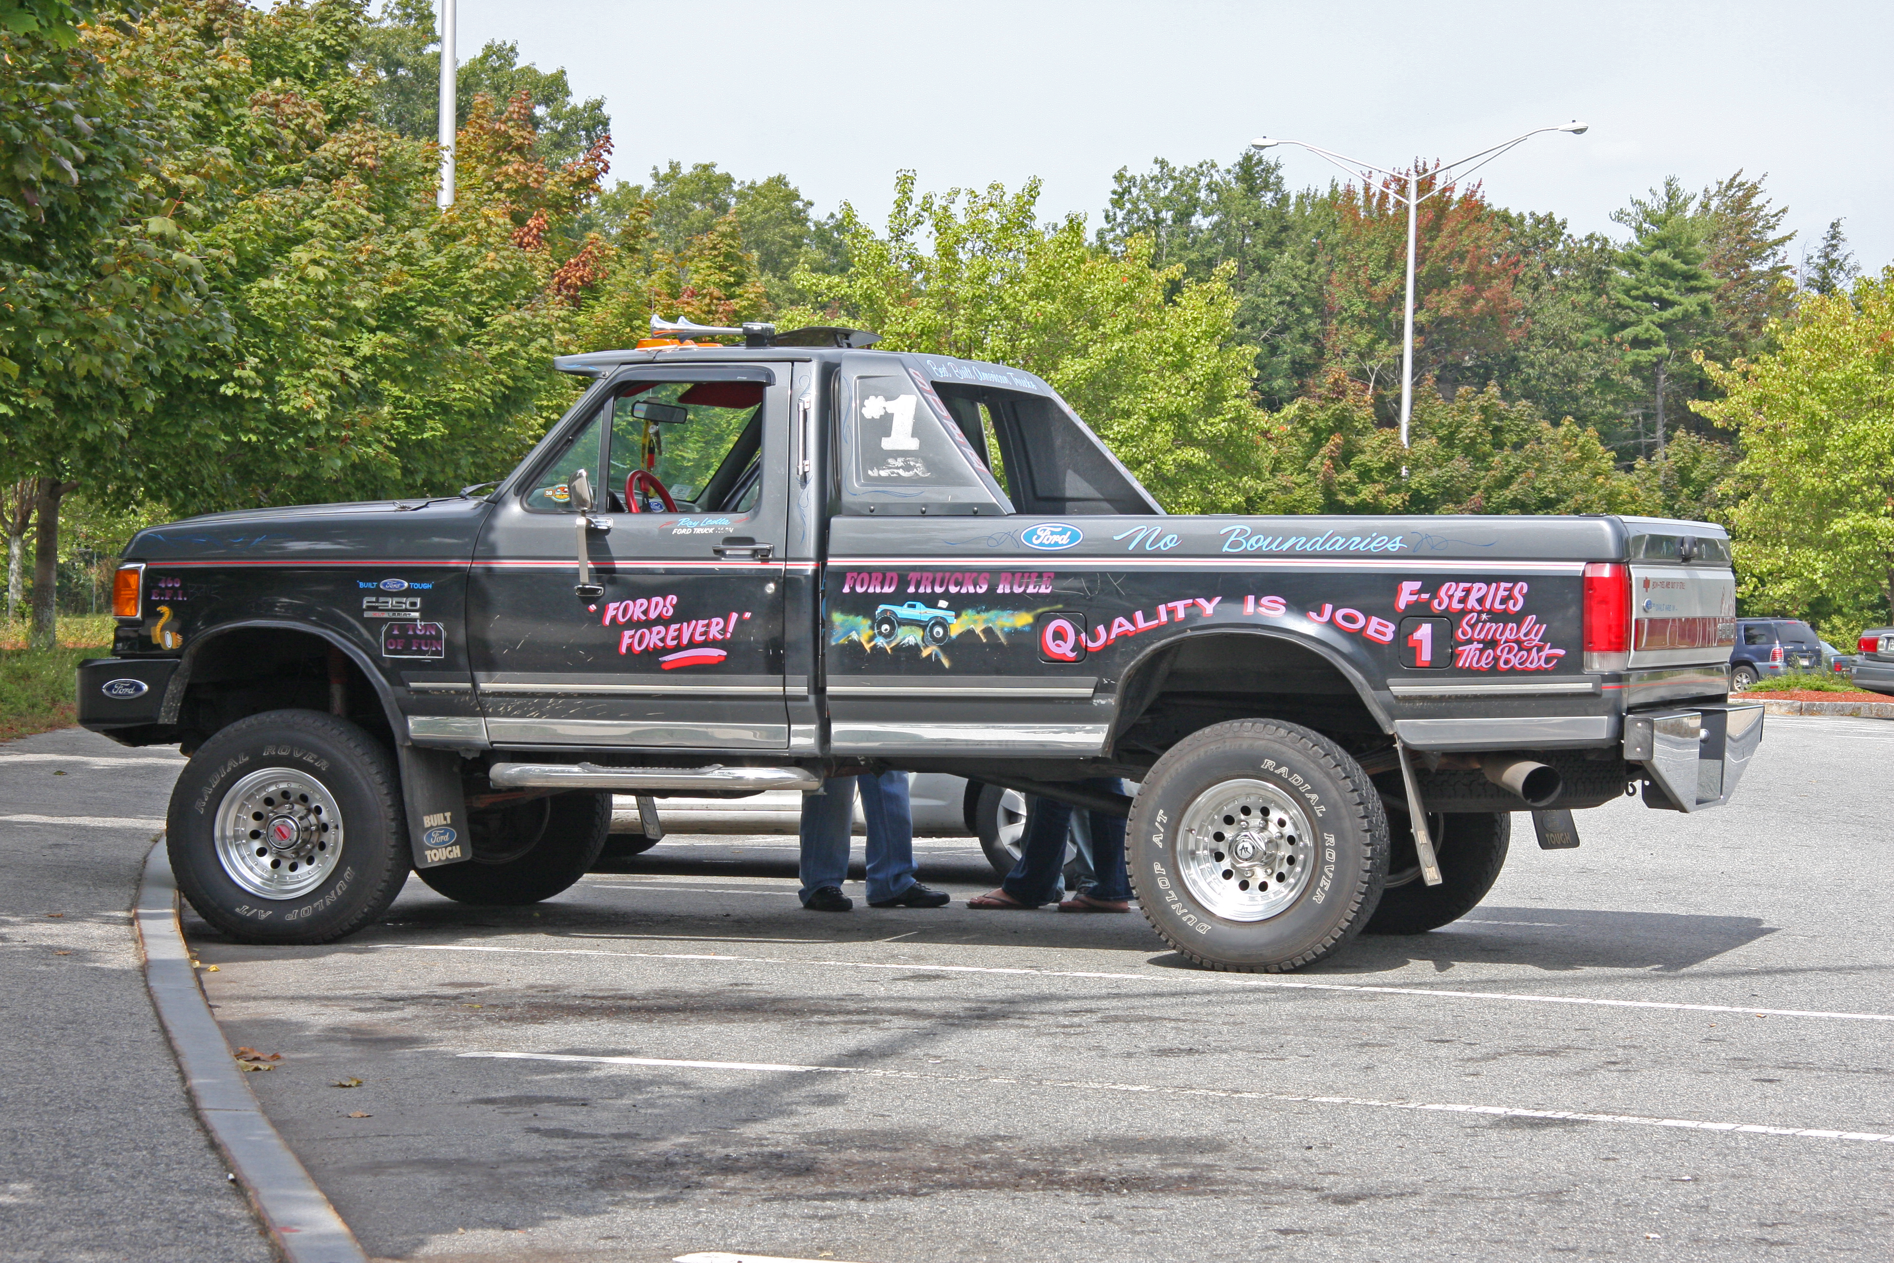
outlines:
[{"label": "long white parking line nearest the viewer, farther from the truck's wheels", "polygon": [[1420,1113],[1479,1113],[1502,1119],[1564,1119],[1574,1123],[1629,1123],[1633,1127],[1678,1127],[1705,1132],[1742,1132],[1752,1136],[1797,1136],[1803,1140],[1860,1140],[1894,1144],[1888,1132],[1847,1132],[1824,1127],[1769,1127],[1765,1123],[1712,1123],[1705,1119],[1661,1119],[1640,1113],[1593,1113],[1587,1110],[1521,1110],[1515,1106],[1468,1106],[1430,1100],[1373,1100],[1369,1096],[1299,1096],[1292,1093],[1239,1093],[1216,1087],[1167,1087],[1161,1083],[1102,1083],[1095,1079],[1027,1079],[970,1074],[924,1074],[919,1070],[875,1070],[871,1066],[794,1066],[748,1060],[678,1060],[669,1057],[576,1057],[572,1053],[458,1053],[494,1060],[551,1060],[591,1066],[653,1066],[667,1070],[725,1070],[752,1074],[856,1074],[875,1079],[924,1079],[934,1083],[981,1083],[1027,1089],[1078,1089],[1091,1093],[1138,1093],[1153,1096],[1212,1096],[1220,1100],[1275,1100],[1309,1106],[1358,1106],[1371,1110],[1415,1110]]}]

